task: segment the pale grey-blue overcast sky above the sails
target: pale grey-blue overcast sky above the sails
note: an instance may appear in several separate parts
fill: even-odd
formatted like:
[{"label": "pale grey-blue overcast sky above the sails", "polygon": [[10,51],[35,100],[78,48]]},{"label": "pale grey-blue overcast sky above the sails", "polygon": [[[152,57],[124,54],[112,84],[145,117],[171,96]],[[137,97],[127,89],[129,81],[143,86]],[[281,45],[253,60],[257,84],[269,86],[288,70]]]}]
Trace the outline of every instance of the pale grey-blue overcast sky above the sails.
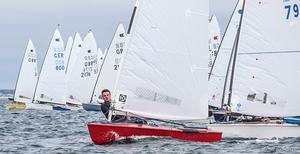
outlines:
[{"label": "pale grey-blue overcast sky above the sails", "polygon": [[[224,31],[236,0],[210,1],[210,13],[216,14]],[[134,4],[135,0],[0,0],[0,89],[15,87],[28,39],[36,47],[39,68],[57,24],[65,43],[76,31],[84,37],[92,29],[104,50],[118,23],[128,27]]]}]

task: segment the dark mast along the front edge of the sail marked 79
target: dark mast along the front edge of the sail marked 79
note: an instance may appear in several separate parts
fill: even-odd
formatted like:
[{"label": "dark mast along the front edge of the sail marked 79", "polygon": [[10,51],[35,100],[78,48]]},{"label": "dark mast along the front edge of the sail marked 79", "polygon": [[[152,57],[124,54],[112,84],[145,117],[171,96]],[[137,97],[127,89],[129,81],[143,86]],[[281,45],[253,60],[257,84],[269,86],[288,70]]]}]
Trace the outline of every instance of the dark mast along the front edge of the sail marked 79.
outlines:
[{"label": "dark mast along the front edge of the sail marked 79", "polygon": [[229,105],[229,106],[230,106],[231,97],[232,97],[232,86],[233,86],[233,79],[234,79],[235,63],[236,63],[237,51],[238,51],[240,34],[241,34],[241,29],[242,29],[242,22],[243,22],[243,17],[244,17],[244,13],[245,13],[245,7],[246,7],[246,0],[243,0],[243,1],[244,1],[244,4],[242,7],[242,15],[241,15],[238,33],[237,33],[237,37],[236,37],[235,51],[234,51],[232,70],[231,70],[231,79],[230,79],[230,84],[229,84],[229,95],[228,95],[228,102],[227,102],[227,105]]}]

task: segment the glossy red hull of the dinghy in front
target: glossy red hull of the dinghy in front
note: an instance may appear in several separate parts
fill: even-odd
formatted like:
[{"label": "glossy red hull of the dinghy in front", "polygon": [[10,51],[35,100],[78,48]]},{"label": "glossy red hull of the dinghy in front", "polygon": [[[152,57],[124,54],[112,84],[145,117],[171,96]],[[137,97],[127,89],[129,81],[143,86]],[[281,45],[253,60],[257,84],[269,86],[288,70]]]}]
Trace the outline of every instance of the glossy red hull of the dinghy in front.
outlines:
[{"label": "glossy red hull of the dinghy in front", "polygon": [[88,128],[95,144],[106,144],[130,136],[166,136],[197,142],[216,142],[222,139],[221,132],[206,129],[177,129],[131,123],[88,123]]}]

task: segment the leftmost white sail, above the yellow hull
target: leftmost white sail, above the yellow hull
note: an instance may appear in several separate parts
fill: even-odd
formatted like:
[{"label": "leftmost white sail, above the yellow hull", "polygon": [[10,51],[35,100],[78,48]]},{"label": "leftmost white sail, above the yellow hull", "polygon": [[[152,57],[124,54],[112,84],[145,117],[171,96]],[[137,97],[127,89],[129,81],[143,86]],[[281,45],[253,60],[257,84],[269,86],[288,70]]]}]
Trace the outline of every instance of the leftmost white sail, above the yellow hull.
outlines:
[{"label": "leftmost white sail, above the yellow hull", "polygon": [[16,84],[14,101],[31,103],[38,79],[37,56],[31,40],[27,44]]}]

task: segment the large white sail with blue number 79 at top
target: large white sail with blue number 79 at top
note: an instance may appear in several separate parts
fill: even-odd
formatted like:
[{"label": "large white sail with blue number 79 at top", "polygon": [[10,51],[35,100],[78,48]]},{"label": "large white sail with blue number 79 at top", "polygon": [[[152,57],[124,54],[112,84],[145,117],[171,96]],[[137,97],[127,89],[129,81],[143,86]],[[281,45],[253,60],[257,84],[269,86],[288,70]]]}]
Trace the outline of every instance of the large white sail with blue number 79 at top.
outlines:
[{"label": "large white sail with blue number 79 at top", "polygon": [[233,111],[300,115],[299,5],[299,0],[246,1],[233,78]]}]

